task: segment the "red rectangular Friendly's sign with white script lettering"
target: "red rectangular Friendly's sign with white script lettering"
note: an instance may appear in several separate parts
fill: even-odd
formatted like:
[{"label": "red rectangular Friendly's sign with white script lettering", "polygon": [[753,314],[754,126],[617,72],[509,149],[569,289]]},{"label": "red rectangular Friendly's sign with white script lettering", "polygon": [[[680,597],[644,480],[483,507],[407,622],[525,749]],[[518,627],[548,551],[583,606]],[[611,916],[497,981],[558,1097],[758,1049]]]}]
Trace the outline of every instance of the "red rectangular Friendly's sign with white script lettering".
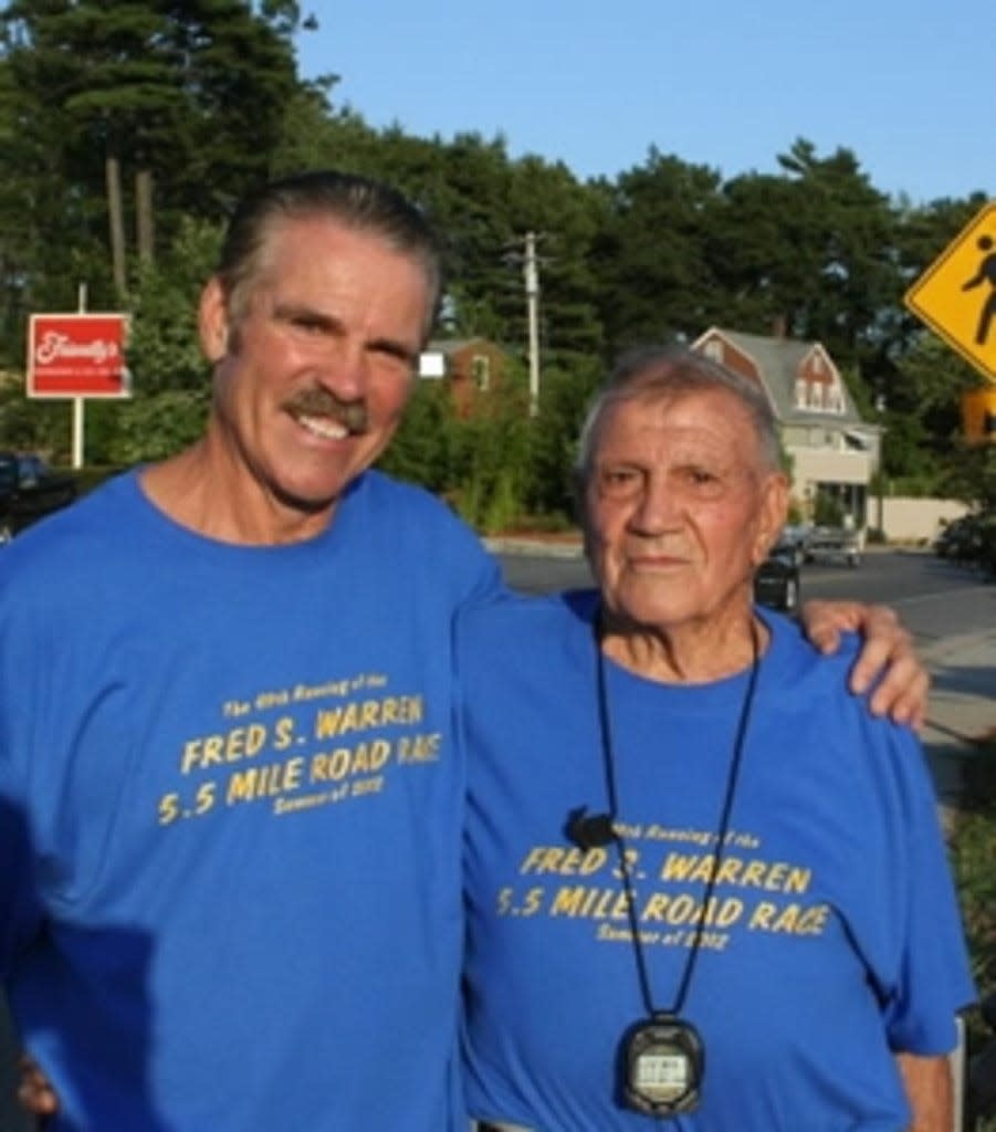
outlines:
[{"label": "red rectangular Friendly's sign with white script lettering", "polygon": [[32,315],[29,397],[128,397],[127,315]]}]

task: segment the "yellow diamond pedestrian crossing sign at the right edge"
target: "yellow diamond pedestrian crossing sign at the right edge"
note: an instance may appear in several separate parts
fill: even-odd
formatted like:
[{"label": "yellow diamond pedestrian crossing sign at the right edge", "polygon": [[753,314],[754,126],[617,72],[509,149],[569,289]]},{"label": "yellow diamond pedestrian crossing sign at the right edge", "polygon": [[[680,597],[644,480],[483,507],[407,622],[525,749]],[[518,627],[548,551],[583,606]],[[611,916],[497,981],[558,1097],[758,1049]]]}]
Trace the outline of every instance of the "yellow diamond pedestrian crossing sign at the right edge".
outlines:
[{"label": "yellow diamond pedestrian crossing sign at the right edge", "polygon": [[935,334],[996,381],[996,200],[959,232],[903,301]]}]

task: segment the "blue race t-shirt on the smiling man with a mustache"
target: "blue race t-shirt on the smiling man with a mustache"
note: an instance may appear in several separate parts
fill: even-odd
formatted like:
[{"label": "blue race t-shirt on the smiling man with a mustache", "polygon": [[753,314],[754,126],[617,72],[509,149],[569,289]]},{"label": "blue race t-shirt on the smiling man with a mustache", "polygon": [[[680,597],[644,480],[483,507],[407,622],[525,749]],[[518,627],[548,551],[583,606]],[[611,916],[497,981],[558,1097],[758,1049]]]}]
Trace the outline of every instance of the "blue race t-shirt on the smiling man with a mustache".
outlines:
[{"label": "blue race t-shirt on the smiling man with a mustache", "polygon": [[496,585],[372,472],[303,543],[129,473],[0,555],[0,972],[57,1127],[465,1127],[452,621]]}]

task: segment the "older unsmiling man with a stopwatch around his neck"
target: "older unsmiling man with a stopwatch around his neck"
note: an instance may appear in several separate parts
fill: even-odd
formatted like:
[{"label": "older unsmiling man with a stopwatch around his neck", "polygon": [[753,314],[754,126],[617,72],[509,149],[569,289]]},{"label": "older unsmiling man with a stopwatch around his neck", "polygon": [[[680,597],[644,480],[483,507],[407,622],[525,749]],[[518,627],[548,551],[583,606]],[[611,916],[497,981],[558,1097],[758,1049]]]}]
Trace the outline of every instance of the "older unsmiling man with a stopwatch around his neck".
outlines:
[{"label": "older unsmiling man with a stopwatch around his neck", "polygon": [[637,354],[581,480],[598,590],[472,610],[457,637],[472,1112],[898,1130],[902,1050],[912,1126],[950,1132],[973,990],[936,805],[913,735],[847,694],[852,646],[819,660],[753,607],[787,505],[766,398]]}]

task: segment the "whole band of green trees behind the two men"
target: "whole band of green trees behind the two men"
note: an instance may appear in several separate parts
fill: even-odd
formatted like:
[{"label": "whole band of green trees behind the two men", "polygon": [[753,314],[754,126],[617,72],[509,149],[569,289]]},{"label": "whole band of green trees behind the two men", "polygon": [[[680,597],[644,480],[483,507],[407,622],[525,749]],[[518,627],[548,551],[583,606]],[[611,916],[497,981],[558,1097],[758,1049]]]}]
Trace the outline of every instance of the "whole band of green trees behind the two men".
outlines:
[{"label": "whole band of green trees behind the two men", "polygon": [[[444,384],[421,383],[384,458],[473,522],[565,514],[577,429],[601,372],[628,345],[693,340],[711,325],[769,334],[779,324],[823,342],[866,417],[887,427],[891,482],[991,498],[990,453],[960,443],[960,394],[978,377],[902,305],[980,197],[890,201],[849,149],[823,155],[802,138],[774,174],[723,181],[651,148],[617,178],[585,182],[561,163],[513,160],[501,136],[377,130],[332,103],[335,75],[299,78],[294,44],[311,24],[294,0],[0,5],[7,368],[23,363],[28,312],[76,309],[81,283],[91,309],[119,308],[117,169],[135,397],[87,408],[88,456],[154,458],[197,434],[208,377],[195,308],[224,213],[265,177],[337,166],[419,203],[446,242],[439,333],[493,340],[513,361],[513,378],[465,417]],[[139,258],[143,231],[155,255]],[[533,417],[530,232],[541,363]],[[65,453],[68,405],[27,404],[19,388],[0,393],[5,443]]]}]

